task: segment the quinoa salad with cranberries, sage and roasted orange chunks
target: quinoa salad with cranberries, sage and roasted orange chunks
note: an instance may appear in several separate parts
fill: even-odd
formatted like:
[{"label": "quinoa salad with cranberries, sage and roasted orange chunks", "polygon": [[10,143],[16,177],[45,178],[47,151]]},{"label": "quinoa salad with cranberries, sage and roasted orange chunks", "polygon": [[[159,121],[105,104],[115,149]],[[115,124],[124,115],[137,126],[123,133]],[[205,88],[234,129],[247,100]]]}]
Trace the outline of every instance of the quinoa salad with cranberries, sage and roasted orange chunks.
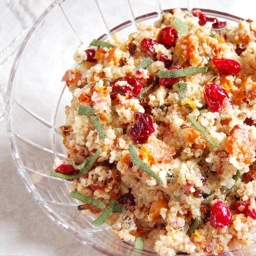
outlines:
[{"label": "quinoa salad with cranberries, sage and roasted orange chunks", "polygon": [[127,38],[79,45],[59,127],[78,214],[158,255],[253,244],[256,25],[166,12]]}]

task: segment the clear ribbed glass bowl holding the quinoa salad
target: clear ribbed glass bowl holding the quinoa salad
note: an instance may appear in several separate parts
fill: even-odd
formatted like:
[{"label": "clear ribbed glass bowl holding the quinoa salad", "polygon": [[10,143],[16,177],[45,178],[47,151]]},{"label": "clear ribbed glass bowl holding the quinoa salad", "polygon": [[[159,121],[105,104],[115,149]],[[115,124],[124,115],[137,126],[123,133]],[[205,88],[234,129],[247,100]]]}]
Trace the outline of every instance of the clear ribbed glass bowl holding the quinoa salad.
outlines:
[{"label": "clear ribbed glass bowl holding the quinoa salad", "polygon": [[[69,197],[67,181],[48,175],[54,158],[66,157],[57,127],[64,124],[64,108],[69,105],[71,93],[60,80],[67,69],[76,65],[72,56],[78,45],[81,42],[89,45],[94,38],[106,39],[116,31],[127,38],[141,20],[153,23],[162,11],[173,8],[200,8],[208,16],[230,22],[237,22],[240,14],[253,19],[246,16],[250,11],[240,5],[238,1],[218,4],[189,0],[56,0],[42,14],[15,59],[8,85],[6,117],[18,172],[54,222],[105,255],[131,255],[132,244],[112,236],[110,227],[95,227],[91,217],[79,214],[79,202]],[[145,248],[142,255],[156,253]],[[225,255],[256,255],[256,245]]]}]

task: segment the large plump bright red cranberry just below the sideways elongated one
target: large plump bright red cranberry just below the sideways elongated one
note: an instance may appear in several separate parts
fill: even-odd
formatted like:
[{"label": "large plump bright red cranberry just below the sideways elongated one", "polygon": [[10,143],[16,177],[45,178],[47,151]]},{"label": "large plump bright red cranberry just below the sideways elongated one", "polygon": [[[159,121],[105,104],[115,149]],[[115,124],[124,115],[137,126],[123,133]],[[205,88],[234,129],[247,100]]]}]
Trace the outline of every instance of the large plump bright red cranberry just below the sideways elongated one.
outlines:
[{"label": "large plump bright red cranberry just below the sideways elongated one", "polygon": [[230,103],[227,91],[217,83],[207,83],[204,86],[204,99],[212,112],[219,112],[222,109],[224,99]]}]

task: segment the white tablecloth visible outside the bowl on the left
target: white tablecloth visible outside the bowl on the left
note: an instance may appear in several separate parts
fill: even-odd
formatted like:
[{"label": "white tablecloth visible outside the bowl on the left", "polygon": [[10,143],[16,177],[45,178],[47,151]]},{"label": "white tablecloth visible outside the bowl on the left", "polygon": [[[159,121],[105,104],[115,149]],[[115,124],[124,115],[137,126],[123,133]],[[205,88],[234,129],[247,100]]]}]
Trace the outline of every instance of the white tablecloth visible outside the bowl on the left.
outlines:
[{"label": "white tablecloth visible outside the bowl on the left", "polygon": [[16,171],[6,132],[4,93],[19,46],[52,0],[0,0],[0,255],[100,255],[52,222]]}]

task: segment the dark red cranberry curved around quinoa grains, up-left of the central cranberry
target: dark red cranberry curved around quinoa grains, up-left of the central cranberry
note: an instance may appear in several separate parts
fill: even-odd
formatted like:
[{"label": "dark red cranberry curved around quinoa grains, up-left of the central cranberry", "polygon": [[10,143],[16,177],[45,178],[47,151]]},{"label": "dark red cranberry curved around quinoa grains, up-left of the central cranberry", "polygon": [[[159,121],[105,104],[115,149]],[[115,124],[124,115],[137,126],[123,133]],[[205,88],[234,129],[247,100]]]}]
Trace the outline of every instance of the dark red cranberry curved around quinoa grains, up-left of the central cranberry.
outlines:
[{"label": "dark red cranberry curved around quinoa grains, up-left of the central cranberry", "polygon": [[[129,85],[118,86],[116,85],[118,81],[126,81]],[[129,94],[129,96],[136,96],[143,89],[143,85],[141,83],[139,83],[135,78],[131,78],[129,76],[117,78],[116,80],[110,83],[110,86],[112,87],[112,91],[110,92],[110,97],[112,99],[116,98],[117,94]]]}]

